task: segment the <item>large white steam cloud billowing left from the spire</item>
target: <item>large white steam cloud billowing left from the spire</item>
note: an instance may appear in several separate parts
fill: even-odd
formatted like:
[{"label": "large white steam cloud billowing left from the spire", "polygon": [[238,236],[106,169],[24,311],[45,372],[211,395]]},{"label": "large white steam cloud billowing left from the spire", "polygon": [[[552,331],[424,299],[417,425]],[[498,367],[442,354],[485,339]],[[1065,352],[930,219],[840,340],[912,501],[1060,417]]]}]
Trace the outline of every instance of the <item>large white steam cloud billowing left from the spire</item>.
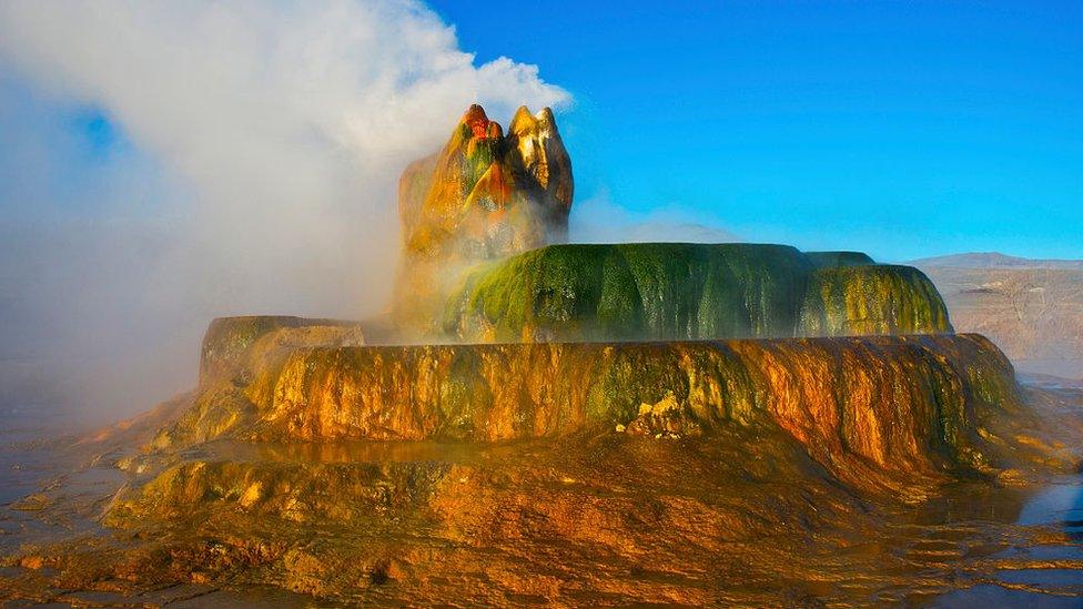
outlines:
[{"label": "large white steam cloud billowing left from the spire", "polygon": [[213,317],[381,313],[399,172],[475,101],[570,97],[417,2],[0,3],[0,400],[131,414]]}]

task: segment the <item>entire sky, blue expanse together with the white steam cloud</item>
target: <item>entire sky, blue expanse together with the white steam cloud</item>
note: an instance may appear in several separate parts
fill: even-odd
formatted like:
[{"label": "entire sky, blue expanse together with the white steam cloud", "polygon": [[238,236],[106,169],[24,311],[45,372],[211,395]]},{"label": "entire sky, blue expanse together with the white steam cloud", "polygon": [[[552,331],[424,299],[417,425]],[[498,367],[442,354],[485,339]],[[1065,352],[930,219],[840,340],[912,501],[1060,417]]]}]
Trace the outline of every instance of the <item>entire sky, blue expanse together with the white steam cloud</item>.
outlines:
[{"label": "entire sky, blue expanse together with the white steam cloud", "polygon": [[0,358],[143,408],[210,318],[382,311],[402,168],[530,65],[574,221],[1083,258],[1083,2],[702,6],[0,1]]}]

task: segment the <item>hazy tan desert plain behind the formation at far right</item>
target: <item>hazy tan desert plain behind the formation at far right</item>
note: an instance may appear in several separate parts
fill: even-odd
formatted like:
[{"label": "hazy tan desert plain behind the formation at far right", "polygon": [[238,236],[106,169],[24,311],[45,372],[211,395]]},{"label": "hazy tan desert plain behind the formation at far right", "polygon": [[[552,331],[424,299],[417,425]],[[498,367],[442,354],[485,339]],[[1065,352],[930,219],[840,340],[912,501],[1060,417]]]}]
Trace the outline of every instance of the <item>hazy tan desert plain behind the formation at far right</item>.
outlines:
[{"label": "hazy tan desert plain behind the formation at far right", "polygon": [[1083,378],[1083,270],[920,268],[957,332],[984,334],[1022,372]]}]

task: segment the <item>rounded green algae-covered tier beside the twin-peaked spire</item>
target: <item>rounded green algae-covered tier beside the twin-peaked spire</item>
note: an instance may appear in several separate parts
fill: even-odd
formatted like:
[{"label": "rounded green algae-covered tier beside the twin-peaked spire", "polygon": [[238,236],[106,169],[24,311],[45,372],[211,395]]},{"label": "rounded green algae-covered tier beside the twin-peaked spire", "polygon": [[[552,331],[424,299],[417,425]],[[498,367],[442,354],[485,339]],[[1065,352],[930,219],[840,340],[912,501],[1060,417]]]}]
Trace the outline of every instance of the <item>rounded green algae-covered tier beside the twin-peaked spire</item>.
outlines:
[{"label": "rounded green algae-covered tier beside the twin-peaked spire", "polygon": [[550,245],[469,272],[442,325],[483,343],[952,331],[915,268],[742,243]]}]

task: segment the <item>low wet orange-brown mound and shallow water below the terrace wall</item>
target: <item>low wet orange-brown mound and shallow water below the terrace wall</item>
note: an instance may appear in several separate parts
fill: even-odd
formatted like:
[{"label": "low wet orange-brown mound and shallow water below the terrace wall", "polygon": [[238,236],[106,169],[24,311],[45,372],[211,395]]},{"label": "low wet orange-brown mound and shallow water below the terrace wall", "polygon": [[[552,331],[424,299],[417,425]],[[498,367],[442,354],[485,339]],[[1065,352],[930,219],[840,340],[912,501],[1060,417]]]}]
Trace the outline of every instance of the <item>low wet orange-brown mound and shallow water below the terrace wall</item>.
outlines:
[{"label": "low wet orange-brown mound and shallow water below the terrace wall", "polygon": [[[908,493],[839,479],[767,418],[661,438],[607,428],[480,444],[219,439],[134,455],[120,448],[131,437],[99,438],[65,453],[63,484],[38,491],[30,519],[63,532],[11,530],[4,510],[0,595],[1071,606],[1083,598],[1083,389],[1026,385],[1021,398],[1025,416],[998,417],[988,433],[1004,469]],[[90,481],[95,473],[112,481]]]}]

